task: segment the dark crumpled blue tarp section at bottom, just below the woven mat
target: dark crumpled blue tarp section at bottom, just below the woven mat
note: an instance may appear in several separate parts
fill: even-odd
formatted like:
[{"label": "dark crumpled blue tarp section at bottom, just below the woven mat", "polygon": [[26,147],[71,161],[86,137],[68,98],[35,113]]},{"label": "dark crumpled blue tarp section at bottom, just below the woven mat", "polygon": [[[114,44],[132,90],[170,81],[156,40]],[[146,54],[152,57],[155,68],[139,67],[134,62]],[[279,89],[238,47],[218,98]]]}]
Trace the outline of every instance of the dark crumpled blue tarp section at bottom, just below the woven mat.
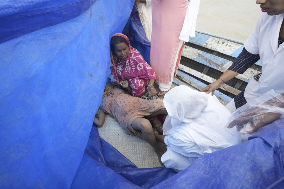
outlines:
[{"label": "dark crumpled blue tarp section at bottom, just below the woven mat", "polygon": [[94,126],[71,188],[150,188],[175,174],[163,167],[138,169]]}]

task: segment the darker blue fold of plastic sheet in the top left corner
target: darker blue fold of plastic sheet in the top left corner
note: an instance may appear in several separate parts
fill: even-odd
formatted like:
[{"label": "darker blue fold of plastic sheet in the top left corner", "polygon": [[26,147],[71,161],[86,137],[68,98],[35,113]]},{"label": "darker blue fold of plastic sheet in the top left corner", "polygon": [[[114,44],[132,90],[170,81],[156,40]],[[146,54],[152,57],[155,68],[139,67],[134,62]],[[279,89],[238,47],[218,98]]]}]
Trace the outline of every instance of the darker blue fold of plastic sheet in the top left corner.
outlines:
[{"label": "darker blue fold of plastic sheet in the top left corner", "polygon": [[0,43],[75,18],[95,1],[3,0],[0,2]]}]

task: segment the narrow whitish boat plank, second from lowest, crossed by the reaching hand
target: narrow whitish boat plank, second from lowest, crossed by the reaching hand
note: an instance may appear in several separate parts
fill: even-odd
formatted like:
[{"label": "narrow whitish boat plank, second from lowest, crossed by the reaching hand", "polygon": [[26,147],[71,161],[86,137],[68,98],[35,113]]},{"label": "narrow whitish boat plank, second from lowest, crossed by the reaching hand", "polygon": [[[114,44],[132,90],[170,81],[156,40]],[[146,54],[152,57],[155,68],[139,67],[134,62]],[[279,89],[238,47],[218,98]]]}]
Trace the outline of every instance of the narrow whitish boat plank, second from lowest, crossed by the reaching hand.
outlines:
[{"label": "narrow whitish boat plank, second from lowest, crossed by the reaching hand", "polygon": [[[180,64],[178,68],[180,70],[185,71],[186,73],[191,74],[193,76],[196,76],[196,77],[198,77],[198,78],[200,78],[200,79],[202,79],[202,80],[204,80],[206,82],[213,83],[213,82],[216,81],[216,79],[214,79],[214,78],[212,78],[210,76],[207,76],[207,75],[205,75],[203,73],[200,73],[199,71],[196,71],[194,69],[188,68],[188,67],[186,67],[186,66],[184,66],[182,64]],[[223,89],[223,90],[225,90],[227,92],[230,92],[232,94],[235,94],[235,95],[238,95],[241,92],[238,89],[235,89],[235,88],[233,88],[233,87],[231,87],[229,85],[226,85],[226,84],[223,84],[221,89]]]}]

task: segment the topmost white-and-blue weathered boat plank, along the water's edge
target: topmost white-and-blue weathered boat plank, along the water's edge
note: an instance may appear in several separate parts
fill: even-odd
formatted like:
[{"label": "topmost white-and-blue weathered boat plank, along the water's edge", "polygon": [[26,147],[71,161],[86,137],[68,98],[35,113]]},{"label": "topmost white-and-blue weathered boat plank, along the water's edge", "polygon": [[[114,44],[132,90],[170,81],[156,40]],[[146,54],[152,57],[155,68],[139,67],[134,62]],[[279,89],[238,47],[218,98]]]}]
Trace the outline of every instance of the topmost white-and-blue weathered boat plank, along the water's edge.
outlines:
[{"label": "topmost white-and-blue weathered boat plank, along the water's edge", "polygon": [[[217,51],[236,58],[243,50],[243,44],[236,43],[224,38],[217,38],[196,32],[196,37],[189,38],[189,43],[193,43],[210,50]],[[255,63],[261,66],[261,61]]]}]

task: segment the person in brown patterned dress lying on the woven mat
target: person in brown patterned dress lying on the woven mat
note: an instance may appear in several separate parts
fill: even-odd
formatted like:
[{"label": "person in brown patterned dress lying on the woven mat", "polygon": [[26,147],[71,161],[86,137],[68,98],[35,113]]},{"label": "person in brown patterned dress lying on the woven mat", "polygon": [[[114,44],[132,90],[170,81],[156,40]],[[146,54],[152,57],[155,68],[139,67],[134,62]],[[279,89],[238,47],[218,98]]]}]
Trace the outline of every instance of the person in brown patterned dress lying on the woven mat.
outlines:
[{"label": "person in brown patterned dress lying on the woven mat", "polygon": [[164,151],[156,141],[152,124],[162,132],[162,123],[155,116],[167,114],[163,100],[144,100],[125,94],[122,89],[113,87],[113,85],[106,87],[105,96],[103,96],[100,106],[102,111],[96,115],[93,123],[101,127],[104,124],[105,113],[112,115],[126,133],[139,136],[153,146],[161,162]]}]

